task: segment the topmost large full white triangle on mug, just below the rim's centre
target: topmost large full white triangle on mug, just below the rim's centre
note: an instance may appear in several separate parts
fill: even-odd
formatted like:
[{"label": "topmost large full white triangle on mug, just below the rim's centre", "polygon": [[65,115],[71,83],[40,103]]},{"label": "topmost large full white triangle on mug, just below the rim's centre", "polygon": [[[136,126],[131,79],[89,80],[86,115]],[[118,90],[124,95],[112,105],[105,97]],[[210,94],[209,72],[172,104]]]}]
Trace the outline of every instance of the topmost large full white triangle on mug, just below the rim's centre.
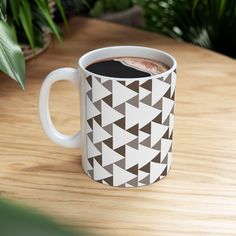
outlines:
[{"label": "topmost large full white triangle on mug, just below the rim's centre", "polygon": [[112,83],[112,91],[112,103],[114,107],[128,101],[129,99],[137,95],[137,93],[132,89],[125,87],[115,80]]}]

